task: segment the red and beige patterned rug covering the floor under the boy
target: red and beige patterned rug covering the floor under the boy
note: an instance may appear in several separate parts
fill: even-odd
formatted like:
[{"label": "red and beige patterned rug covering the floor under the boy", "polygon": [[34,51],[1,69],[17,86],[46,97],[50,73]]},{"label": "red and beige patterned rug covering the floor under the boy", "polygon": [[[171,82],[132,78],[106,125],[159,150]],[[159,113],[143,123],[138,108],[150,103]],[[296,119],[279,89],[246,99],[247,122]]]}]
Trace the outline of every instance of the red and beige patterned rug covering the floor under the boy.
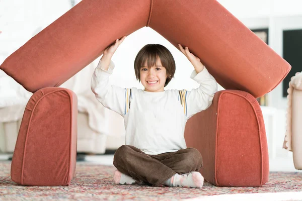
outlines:
[{"label": "red and beige patterned rug covering the floor under the boy", "polygon": [[77,162],[76,176],[69,186],[41,187],[16,184],[11,180],[10,167],[10,162],[0,162],[0,200],[180,200],[222,194],[302,191],[302,172],[271,172],[269,181],[262,187],[217,187],[205,181],[202,189],[196,189],[115,185],[114,166]]}]

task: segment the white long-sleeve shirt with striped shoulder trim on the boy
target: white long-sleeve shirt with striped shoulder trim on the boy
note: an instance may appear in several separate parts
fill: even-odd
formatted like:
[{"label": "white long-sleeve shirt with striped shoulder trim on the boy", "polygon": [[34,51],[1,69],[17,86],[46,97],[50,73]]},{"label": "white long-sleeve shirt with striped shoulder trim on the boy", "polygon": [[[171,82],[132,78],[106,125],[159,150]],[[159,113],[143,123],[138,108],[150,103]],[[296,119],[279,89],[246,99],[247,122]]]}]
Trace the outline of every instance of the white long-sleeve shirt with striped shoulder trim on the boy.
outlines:
[{"label": "white long-sleeve shirt with striped shoulder trim on the boy", "polygon": [[217,82],[207,69],[191,74],[200,84],[198,88],[162,92],[111,85],[109,77],[113,69],[113,61],[108,70],[102,69],[100,61],[92,76],[91,89],[105,108],[124,118],[125,144],[151,155],[187,148],[184,138],[187,120],[207,109],[217,92]]}]

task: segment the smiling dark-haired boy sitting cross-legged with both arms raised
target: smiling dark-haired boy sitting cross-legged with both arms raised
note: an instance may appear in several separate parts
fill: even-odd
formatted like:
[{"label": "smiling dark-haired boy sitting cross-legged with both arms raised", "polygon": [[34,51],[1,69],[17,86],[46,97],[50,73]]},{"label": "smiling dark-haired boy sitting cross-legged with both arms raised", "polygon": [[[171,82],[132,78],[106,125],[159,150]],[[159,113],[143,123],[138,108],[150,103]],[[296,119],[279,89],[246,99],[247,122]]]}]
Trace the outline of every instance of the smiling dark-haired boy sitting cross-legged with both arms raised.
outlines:
[{"label": "smiling dark-haired boy sitting cross-legged with both arms raised", "polygon": [[184,130],[190,117],[211,105],[217,92],[215,79],[188,47],[179,44],[195,68],[191,78],[200,86],[191,91],[165,90],[174,76],[175,61],[166,47],[148,44],[134,61],[144,90],[110,85],[111,57],[124,39],[104,50],[91,82],[98,101],[124,118],[126,143],[114,154],[114,182],[201,188],[202,157],[197,149],[186,147]]}]

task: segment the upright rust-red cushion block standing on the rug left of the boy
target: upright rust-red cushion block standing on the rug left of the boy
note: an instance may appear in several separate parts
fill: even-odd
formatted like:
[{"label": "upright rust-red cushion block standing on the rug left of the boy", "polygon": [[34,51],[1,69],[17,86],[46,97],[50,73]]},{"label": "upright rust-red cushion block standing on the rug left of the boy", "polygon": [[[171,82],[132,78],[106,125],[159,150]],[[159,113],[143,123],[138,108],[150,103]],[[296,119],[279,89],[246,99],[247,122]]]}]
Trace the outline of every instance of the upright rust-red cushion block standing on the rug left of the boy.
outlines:
[{"label": "upright rust-red cushion block standing on the rug left of the boy", "polygon": [[12,159],[12,180],[21,185],[65,186],[77,158],[77,95],[46,87],[30,98]]}]

